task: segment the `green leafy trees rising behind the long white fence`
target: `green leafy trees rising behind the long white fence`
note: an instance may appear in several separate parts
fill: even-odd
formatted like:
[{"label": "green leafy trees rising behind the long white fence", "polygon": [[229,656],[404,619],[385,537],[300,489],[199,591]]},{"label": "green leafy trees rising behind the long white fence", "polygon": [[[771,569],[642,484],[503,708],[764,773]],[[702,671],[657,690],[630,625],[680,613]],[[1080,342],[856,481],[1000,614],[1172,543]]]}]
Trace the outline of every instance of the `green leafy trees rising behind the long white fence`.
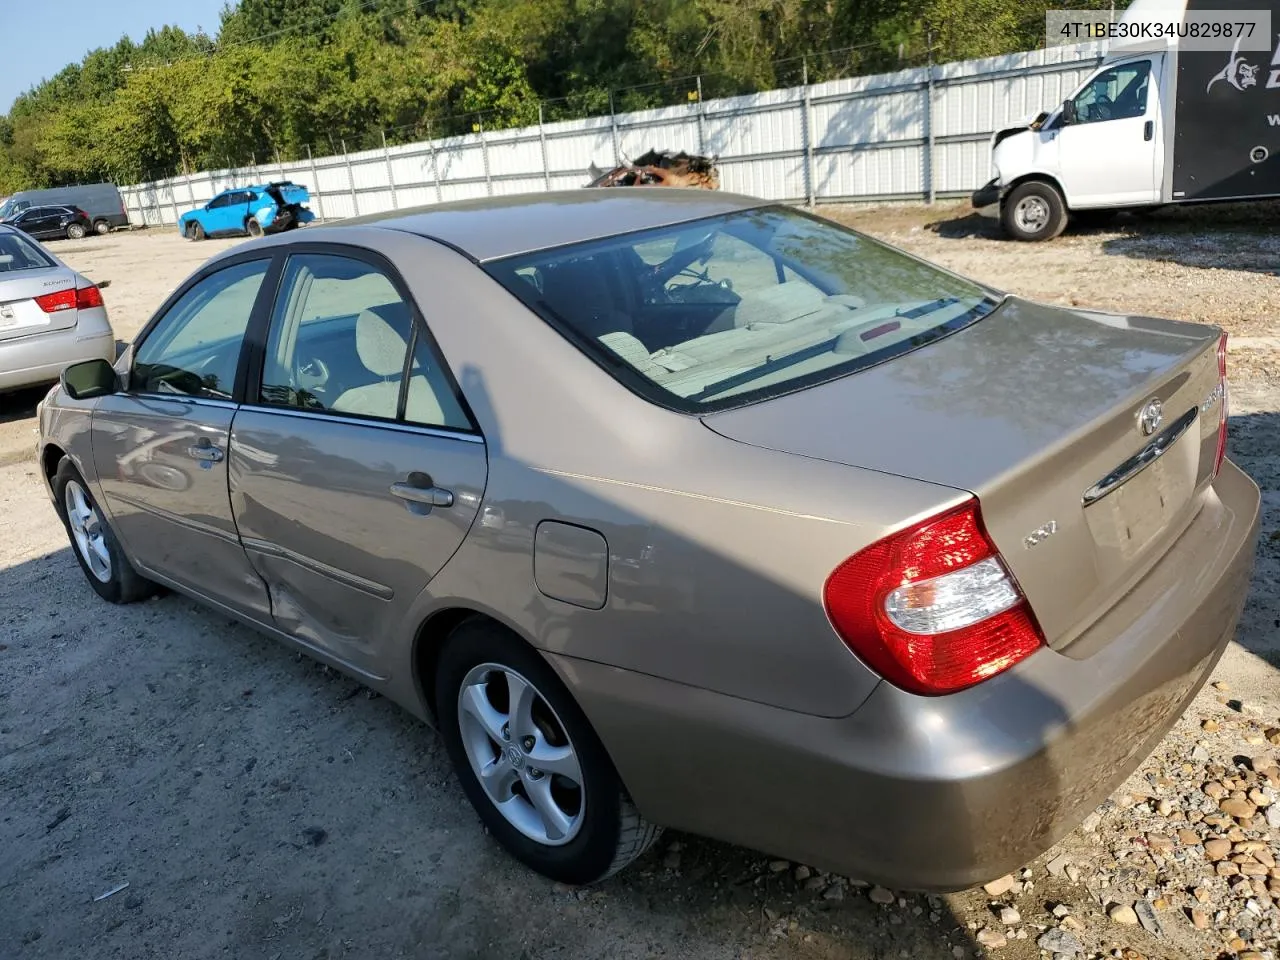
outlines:
[{"label": "green leafy trees rising behind the long white fence", "polygon": [[[1055,6],[1106,6],[1057,0]],[[0,115],[0,195],[686,102],[1037,46],[1023,0],[239,0]],[[835,52],[818,52],[835,51]]]}]

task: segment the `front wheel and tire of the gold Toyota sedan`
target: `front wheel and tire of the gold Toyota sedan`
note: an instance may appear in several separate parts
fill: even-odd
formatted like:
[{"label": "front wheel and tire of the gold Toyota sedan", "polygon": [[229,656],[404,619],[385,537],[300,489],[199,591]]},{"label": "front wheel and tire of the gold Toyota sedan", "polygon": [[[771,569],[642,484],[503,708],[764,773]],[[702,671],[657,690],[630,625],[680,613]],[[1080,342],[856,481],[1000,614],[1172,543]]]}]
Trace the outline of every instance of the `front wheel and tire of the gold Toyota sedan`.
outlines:
[{"label": "front wheel and tire of the gold Toyota sedan", "polygon": [[143,579],[125,558],[102,508],[68,457],[58,463],[51,486],[72,553],[93,591],[109,603],[133,603],[155,593],[155,584]]}]

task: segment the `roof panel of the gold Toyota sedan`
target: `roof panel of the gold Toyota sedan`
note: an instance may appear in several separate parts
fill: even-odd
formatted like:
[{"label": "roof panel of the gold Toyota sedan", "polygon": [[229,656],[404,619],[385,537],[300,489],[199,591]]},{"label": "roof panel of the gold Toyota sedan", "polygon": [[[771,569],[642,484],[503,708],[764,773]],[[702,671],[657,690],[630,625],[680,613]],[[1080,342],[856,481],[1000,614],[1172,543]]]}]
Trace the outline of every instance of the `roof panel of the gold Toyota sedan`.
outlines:
[{"label": "roof panel of the gold Toyota sedan", "polygon": [[723,191],[612,187],[517,193],[352,216],[320,229],[378,227],[447,243],[475,261],[617,237],[773,201]]}]

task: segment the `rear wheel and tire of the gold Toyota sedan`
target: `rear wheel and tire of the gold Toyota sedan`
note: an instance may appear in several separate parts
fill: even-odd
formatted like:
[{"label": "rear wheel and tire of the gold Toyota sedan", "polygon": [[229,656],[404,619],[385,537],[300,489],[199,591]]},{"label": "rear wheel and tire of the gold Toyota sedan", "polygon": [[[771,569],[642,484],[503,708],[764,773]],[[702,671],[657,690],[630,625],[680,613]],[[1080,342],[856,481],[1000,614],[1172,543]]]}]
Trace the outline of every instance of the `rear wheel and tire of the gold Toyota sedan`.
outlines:
[{"label": "rear wheel and tire of the gold Toyota sedan", "polygon": [[556,672],[502,627],[468,620],[449,635],[435,705],[462,790],[526,867],[562,883],[595,883],[660,835],[626,795]]}]

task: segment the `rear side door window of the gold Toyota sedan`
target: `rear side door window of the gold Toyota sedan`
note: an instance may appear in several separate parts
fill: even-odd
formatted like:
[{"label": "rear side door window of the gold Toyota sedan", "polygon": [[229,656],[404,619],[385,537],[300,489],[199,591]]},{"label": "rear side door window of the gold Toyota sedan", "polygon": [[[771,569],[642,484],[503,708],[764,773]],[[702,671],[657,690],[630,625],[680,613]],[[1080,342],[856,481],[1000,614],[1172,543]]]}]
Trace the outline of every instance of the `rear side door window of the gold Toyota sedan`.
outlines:
[{"label": "rear side door window of the gold Toyota sedan", "polygon": [[289,257],[271,315],[261,403],[470,430],[396,284],[352,257]]}]

